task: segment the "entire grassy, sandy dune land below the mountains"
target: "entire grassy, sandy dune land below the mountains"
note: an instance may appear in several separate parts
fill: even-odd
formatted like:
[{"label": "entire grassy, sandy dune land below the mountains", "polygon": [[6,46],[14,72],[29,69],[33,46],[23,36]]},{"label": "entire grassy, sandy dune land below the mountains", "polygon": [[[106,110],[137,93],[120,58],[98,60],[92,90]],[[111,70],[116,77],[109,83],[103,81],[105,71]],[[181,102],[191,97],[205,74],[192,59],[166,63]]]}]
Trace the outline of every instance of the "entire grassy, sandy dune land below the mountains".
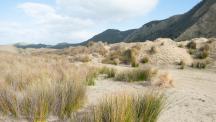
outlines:
[{"label": "entire grassy, sandy dune land below the mountains", "polygon": [[215,40],[2,48],[0,121],[214,121]]}]

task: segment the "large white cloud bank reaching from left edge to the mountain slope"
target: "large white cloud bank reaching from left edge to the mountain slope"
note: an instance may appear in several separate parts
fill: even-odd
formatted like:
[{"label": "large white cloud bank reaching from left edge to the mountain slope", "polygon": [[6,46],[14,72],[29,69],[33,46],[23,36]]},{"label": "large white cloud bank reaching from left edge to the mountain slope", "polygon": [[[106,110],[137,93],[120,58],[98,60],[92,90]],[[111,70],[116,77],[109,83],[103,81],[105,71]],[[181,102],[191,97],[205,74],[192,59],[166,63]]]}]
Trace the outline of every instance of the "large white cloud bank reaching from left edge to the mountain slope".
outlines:
[{"label": "large white cloud bank reaching from left edge to the mountain slope", "polygon": [[[143,16],[158,0],[56,0],[56,5],[17,5],[32,21],[0,22],[0,42],[59,43],[85,41],[106,25]],[[29,20],[29,19],[28,19]],[[99,30],[105,30],[101,28]],[[3,41],[4,40],[4,41]]]}]

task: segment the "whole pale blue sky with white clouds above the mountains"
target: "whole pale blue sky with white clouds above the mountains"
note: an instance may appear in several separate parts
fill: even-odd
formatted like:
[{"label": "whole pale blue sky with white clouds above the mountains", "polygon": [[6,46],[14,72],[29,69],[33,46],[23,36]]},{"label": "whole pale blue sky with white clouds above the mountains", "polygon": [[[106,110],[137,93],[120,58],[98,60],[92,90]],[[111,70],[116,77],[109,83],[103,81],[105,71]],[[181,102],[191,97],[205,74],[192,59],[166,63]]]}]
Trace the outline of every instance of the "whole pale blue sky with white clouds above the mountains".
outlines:
[{"label": "whole pale blue sky with white clouds above the mountains", "polygon": [[0,0],[0,44],[78,43],[182,14],[200,0]]}]

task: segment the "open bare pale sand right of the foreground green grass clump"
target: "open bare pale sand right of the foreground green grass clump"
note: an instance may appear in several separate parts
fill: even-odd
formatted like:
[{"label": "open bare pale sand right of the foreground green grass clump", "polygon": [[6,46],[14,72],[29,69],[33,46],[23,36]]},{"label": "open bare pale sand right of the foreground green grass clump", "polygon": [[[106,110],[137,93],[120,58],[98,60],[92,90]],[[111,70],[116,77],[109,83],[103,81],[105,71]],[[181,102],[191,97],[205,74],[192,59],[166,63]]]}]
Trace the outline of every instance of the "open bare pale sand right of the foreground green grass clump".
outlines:
[{"label": "open bare pale sand right of the foreground green grass clump", "polygon": [[168,70],[176,81],[167,90],[169,107],[159,122],[216,122],[216,73]]}]

